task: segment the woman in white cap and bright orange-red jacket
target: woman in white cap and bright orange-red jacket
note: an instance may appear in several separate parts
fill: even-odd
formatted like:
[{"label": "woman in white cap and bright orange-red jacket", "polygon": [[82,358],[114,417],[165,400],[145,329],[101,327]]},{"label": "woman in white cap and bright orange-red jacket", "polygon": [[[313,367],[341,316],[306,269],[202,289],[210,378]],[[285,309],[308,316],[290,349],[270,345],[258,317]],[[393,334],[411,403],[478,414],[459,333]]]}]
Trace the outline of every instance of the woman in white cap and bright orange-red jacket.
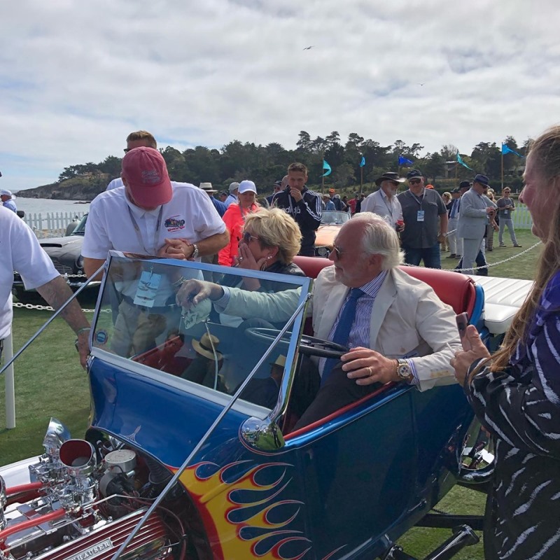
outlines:
[{"label": "woman in white cap and bright orange-red jacket", "polygon": [[246,217],[260,207],[256,202],[257,188],[253,181],[241,181],[237,190],[238,204],[233,202],[223,215],[225,227],[230,232],[230,242],[218,251],[218,265],[232,267],[236,264],[241,231],[243,230]]}]

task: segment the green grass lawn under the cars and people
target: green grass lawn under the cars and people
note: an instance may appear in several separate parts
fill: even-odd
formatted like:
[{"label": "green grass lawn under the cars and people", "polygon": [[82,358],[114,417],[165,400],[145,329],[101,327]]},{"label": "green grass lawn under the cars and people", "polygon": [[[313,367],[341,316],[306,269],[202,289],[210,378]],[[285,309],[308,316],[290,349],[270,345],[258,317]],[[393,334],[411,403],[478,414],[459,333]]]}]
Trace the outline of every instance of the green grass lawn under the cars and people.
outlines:
[{"label": "green grass lawn under the cars and people", "polygon": [[[516,232],[523,248],[498,247],[486,254],[490,264],[506,260],[535,244],[538,239],[528,230]],[[535,262],[542,245],[536,246],[519,258],[491,267],[491,276],[532,279]],[[442,266],[452,269],[456,260],[442,253]],[[92,308],[92,302],[84,302]],[[17,351],[50,316],[49,311],[15,309],[13,321],[14,351]],[[90,316],[91,318],[91,316]],[[15,362],[16,428],[6,429],[4,415],[5,393],[0,378],[0,465],[21,458],[41,454],[42,441],[50,416],[66,424],[73,437],[83,437],[90,409],[87,376],[81,369],[73,346],[73,333],[62,319],[52,323],[38,340]],[[439,510],[459,514],[482,513],[484,496],[475,491],[454,488],[437,506]],[[447,530],[414,528],[404,535],[399,544],[416,557],[423,557],[450,534]],[[483,560],[482,544],[468,547],[456,556],[462,560]]]}]

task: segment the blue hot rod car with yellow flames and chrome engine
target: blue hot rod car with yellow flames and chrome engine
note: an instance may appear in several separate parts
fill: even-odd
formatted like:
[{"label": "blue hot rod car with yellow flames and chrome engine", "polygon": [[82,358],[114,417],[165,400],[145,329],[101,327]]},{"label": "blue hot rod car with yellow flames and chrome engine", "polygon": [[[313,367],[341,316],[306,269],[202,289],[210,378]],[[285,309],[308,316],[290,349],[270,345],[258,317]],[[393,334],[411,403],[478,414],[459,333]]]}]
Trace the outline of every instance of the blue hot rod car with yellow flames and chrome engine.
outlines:
[{"label": "blue hot rod car with yellow flames and chrome engine", "polygon": [[[73,439],[51,419],[41,456],[0,469],[0,559],[411,559],[395,540],[458,480],[488,475],[465,466],[480,462],[479,428],[457,385],[387,384],[294,430],[302,356],[340,351],[307,335],[304,314],[330,262],[298,264],[310,277],[111,253],[90,338],[90,428]],[[499,336],[470,277],[407,270]],[[244,289],[243,276],[297,295],[289,318],[270,329],[209,300],[176,305],[186,279]],[[475,540],[463,527],[430,558]]]}]

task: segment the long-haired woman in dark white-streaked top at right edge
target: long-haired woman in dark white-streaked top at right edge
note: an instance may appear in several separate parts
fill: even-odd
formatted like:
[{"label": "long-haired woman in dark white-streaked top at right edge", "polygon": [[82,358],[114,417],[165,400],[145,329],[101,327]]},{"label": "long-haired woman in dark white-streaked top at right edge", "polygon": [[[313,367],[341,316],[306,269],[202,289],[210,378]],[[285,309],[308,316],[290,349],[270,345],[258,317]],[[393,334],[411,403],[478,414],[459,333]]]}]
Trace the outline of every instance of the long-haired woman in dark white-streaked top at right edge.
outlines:
[{"label": "long-haired woman in dark white-streaked top at right edge", "polygon": [[560,127],[531,146],[524,202],[545,244],[535,283],[500,350],[474,326],[451,365],[496,442],[486,559],[560,558]]}]

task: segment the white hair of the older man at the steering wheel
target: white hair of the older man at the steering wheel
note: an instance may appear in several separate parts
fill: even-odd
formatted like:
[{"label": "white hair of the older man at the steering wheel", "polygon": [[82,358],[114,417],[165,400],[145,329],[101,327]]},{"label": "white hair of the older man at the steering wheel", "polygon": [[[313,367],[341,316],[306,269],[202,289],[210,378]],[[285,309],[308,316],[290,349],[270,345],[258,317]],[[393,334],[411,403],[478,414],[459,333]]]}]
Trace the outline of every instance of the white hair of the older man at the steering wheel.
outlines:
[{"label": "white hair of the older man at the steering wheel", "polygon": [[362,248],[366,255],[381,255],[381,269],[391,270],[402,265],[404,253],[393,226],[372,212],[360,212],[349,223],[363,223]]}]

